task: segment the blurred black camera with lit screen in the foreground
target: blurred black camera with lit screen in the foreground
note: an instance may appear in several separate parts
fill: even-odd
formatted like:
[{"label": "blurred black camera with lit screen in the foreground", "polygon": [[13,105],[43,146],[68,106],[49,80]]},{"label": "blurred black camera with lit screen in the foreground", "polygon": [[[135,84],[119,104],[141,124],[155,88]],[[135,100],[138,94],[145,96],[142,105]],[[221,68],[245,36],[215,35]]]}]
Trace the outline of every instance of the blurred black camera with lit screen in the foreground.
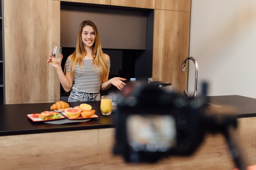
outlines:
[{"label": "blurred black camera with lit screen in the foreground", "polygon": [[[206,132],[221,132],[229,148],[237,147],[232,129],[236,118],[209,110],[207,97],[188,98],[155,84],[136,82],[117,99],[114,154],[127,162],[156,162],[170,155],[191,155]],[[241,155],[233,158],[238,166]]]}]

